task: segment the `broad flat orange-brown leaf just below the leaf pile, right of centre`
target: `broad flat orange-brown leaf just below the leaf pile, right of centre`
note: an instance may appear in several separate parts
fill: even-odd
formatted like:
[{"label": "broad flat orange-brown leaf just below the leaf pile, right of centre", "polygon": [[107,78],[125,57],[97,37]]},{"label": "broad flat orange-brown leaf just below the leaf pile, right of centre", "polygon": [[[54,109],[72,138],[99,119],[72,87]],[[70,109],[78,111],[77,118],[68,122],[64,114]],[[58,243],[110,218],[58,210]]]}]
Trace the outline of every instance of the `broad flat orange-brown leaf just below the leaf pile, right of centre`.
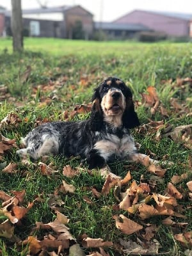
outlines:
[{"label": "broad flat orange-brown leaf just below the leaf pile, right of centre", "polygon": [[116,227],[120,229],[124,234],[131,235],[138,230],[141,230],[143,226],[126,218],[123,214],[115,217]]}]

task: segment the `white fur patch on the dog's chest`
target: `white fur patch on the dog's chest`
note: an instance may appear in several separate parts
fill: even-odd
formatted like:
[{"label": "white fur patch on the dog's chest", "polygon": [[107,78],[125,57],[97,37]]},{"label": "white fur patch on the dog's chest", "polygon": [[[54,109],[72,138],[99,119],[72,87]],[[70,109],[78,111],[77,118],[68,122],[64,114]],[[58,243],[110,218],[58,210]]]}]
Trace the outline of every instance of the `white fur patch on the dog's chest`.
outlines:
[{"label": "white fur patch on the dog's chest", "polygon": [[115,134],[108,134],[102,140],[97,141],[94,148],[105,159],[109,159],[113,155],[124,159],[136,151],[134,140],[130,134],[124,134],[122,138],[119,138]]}]

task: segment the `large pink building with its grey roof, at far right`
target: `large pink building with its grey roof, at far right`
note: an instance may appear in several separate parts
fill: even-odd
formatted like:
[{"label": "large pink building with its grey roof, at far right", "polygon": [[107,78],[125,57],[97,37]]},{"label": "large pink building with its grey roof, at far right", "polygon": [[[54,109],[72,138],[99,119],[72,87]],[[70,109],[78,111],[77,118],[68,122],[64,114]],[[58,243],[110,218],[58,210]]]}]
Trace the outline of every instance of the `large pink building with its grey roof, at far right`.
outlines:
[{"label": "large pink building with its grey roof, at far right", "polygon": [[134,10],[113,21],[115,24],[142,24],[168,36],[192,37],[192,13],[152,12]]}]

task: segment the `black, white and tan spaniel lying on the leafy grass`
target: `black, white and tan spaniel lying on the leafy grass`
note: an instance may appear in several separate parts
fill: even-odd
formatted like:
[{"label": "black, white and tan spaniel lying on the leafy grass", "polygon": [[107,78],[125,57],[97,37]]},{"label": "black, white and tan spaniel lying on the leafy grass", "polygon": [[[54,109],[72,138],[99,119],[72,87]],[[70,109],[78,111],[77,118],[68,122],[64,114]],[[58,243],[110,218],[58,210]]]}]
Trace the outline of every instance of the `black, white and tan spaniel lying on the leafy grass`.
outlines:
[{"label": "black, white and tan spaniel lying on the leafy grass", "polygon": [[115,159],[140,162],[130,129],[140,125],[132,93],[124,81],[108,77],[95,89],[88,120],[50,122],[33,129],[22,140],[21,157],[80,156],[90,169],[102,168]]}]

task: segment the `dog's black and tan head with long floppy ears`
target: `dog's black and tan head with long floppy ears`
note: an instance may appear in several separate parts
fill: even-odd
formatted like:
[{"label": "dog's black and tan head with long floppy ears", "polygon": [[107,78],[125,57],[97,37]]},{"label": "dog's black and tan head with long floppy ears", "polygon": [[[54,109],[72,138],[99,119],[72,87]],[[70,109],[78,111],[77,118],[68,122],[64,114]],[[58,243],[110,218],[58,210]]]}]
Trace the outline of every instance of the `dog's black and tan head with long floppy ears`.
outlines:
[{"label": "dog's black and tan head with long floppy ears", "polygon": [[[140,125],[134,111],[131,90],[122,80],[108,77],[95,89],[92,100],[92,118],[95,118],[95,124],[102,124],[104,120],[112,127],[123,126],[129,129]],[[97,129],[100,127],[98,125]]]}]

